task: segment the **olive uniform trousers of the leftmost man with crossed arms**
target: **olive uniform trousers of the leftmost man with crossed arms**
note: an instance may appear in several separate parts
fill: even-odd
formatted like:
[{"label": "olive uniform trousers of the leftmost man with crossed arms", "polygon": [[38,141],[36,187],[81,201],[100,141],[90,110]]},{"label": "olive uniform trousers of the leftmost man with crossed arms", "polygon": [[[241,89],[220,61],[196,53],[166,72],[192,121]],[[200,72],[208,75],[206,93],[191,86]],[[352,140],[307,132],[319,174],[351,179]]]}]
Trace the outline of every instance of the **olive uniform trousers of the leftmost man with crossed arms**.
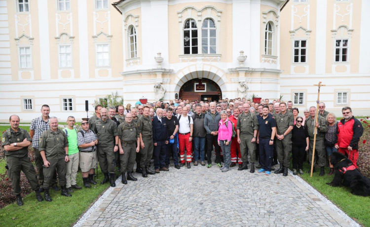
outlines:
[{"label": "olive uniform trousers of the leftmost man with crossed arms", "polygon": [[8,166],[9,170],[9,178],[11,179],[13,193],[19,195],[21,193],[21,170],[26,175],[28,182],[31,185],[33,190],[39,189],[36,171],[34,169],[34,165],[31,163],[29,157],[24,158],[16,158],[16,157],[8,157],[6,159],[6,165]]}]

